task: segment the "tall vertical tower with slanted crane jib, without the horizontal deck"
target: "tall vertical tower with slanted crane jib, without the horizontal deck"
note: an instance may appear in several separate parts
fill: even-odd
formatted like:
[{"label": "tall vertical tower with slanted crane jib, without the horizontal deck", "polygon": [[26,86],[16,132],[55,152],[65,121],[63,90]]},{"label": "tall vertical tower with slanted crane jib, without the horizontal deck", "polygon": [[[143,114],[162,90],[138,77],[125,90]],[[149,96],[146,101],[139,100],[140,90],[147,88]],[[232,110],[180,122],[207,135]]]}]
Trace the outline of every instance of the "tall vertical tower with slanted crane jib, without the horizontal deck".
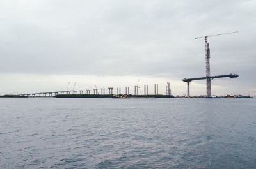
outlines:
[{"label": "tall vertical tower with slanted crane jib, without the horizontal deck", "polygon": [[232,33],[238,33],[238,31],[234,31],[230,33],[215,34],[215,35],[207,35],[207,36],[201,36],[201,37],[195,38],[195,39],[204,38],[205,40],[206,96],[211,96],[210,48],[209,48],[209,43],[207,43],[207,38],[212,36],[220,36],[223,34],[232,34]]}]

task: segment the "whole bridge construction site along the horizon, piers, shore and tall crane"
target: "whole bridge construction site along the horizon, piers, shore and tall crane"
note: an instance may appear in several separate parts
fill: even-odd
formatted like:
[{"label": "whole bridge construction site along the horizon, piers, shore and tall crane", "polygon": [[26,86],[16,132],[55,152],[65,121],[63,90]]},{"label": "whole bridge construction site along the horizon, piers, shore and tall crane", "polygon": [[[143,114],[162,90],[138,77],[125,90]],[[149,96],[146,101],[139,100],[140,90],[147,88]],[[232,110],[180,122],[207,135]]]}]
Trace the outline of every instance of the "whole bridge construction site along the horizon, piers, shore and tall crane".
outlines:
[{"label": "whole bridge construction site along the horizon, piers, shore and tall crane", "polygon": [[[122,94],[121,88],[116,87],[116,93],[113,94],[114,87],[108,87],[108,94],[105,94],[105,88],[100,89],[100,94],[98,92],[97,86],[95,84],[95,89],[93,89],[93,94],[91,94],[91,89],[79,90],[79,94],[75,91],[76,82],[74,83],[74,87],[72,90],[68,90],[70,83],[68,83],[67,90],[65,91],[54,91],[54,92],[37,92],[37,93],[28,93],[28,94],[18,94],[17,97],[54,97],[54,98],[250,98],[250,96],[242,96],[242,95],[234,95],[234,96],[212,96],[211,93],[211,80],[215,78],[237,78],[239,75],[237,74],[226,74],[226,75],[215,75],[212,76],[210,73],[210,48],[209,43],[207,42],[207,38],[212,36],[221,36],[224,34],[234,34],[238,33],[238,31],[230,32],[230,33],[222,33],[215,35],[207,35],[196,37],[195,39],[204,38],[205,40],[205,68],[206,75],[205,77],[198,78],[183,78],[182,81],[187,83],[187,91],[183,96],[174,97],[171,94],[170,82],[167,82],[166,85],[166,95],[158,94],[158,84],[154,84],[154,94],[148,94],[148,85],[144,85],[144,94],[140,92],[139,94],[139,81],[134,86],[134,94],[130,93],[130,88],[125,87],[125,94]],[[190,96],[190,83],[195,80],[206,80],[206,95],[203,96]],[[8,95],[12,96],[12,95]]]}]

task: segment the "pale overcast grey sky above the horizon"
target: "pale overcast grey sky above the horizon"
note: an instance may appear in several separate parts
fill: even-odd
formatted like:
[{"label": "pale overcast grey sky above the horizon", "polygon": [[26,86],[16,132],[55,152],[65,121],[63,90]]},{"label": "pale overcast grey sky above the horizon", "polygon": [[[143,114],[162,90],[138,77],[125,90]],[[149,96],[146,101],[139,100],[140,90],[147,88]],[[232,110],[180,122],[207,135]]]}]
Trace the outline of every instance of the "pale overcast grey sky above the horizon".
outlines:
[{"label": "pale overcast grey sky above the horizon", "polygon": [[[182,78],[205,76],[212,94],[256,95],[256,1],[0,0],[0,94],[154,84],[186,93]],[[192,96],[206,92],[191,82]]]}]

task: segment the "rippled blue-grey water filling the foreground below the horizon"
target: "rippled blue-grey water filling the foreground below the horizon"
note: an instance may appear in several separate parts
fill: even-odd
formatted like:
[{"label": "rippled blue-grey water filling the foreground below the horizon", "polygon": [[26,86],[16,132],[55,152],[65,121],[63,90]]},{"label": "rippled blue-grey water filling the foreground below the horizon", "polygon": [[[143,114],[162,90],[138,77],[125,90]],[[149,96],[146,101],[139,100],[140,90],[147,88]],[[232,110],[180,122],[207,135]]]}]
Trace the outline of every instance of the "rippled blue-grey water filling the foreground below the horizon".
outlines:
[{"label": "rippled blue-grey water filling the foreground below the horizon", "polygon": [[0,168],[256,168],[256,99],[0,98]]}]

